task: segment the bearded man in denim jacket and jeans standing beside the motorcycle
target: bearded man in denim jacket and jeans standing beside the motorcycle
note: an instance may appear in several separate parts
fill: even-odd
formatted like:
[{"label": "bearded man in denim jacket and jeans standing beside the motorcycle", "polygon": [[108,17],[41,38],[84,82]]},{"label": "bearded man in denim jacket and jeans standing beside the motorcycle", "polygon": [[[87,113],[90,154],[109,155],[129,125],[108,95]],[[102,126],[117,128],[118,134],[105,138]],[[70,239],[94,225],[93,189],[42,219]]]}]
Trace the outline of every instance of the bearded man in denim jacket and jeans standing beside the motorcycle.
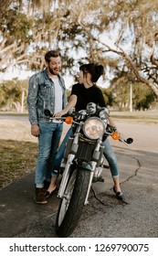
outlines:
[{"label": "bearded man in denim jacket and jeans standing beside the motorcycle", "polygon": [[[57,50],[45,55],[46,69],[33,75],[29,80],[27,107],[32,135],[38,137],[38,155],[36,167],[37,204],[46,204],[44,184],[55,174],[54,159],[63,129],[63,123],[49,122],[45,109],[55,114],[67,104],[65,81],[59,75],[61,57]],[[56,176],[56,174],[55,174]]]}]

